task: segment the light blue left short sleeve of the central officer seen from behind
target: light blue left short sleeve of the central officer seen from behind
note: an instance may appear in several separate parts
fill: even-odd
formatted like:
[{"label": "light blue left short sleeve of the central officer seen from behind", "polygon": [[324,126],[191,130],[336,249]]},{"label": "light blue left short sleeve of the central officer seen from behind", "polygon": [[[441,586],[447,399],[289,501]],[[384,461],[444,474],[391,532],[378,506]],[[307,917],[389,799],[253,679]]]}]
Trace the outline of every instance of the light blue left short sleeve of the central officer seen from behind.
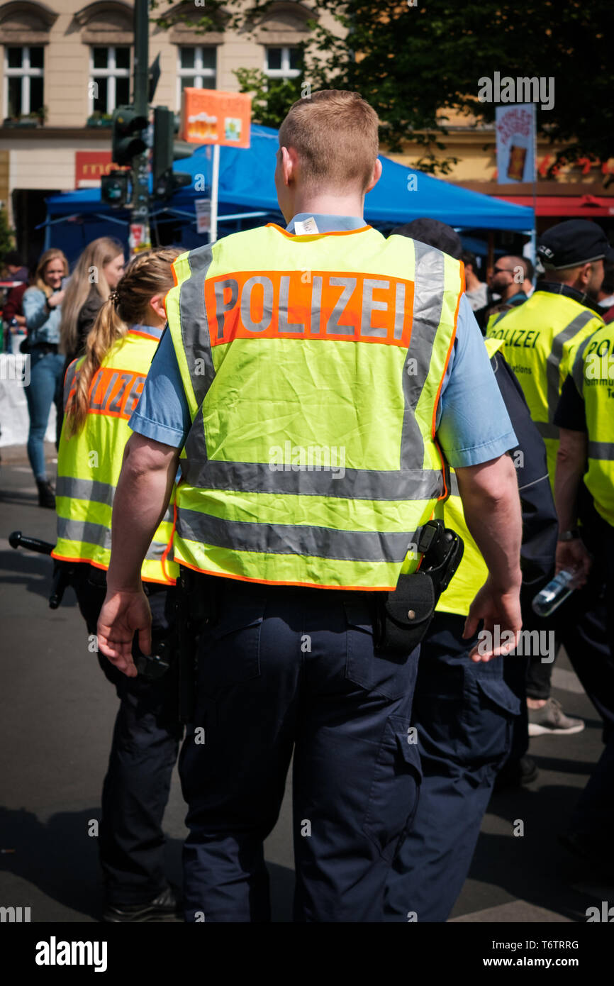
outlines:
[{"label": "light blue left short sleeve of the central officer seen from behind", "polygon": [[167,329],[128,425],[145,438],[181,449],[191,423],[171,332]]}]

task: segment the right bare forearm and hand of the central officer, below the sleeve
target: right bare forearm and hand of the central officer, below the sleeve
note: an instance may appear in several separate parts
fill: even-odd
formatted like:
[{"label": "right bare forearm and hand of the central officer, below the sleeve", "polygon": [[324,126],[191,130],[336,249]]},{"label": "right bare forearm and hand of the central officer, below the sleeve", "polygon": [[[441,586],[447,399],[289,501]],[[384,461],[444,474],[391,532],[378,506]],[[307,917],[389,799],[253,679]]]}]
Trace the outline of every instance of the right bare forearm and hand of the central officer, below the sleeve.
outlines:
[{"label": "right bare forearm and hand of the central officer, below the sleeve", "polygon": [[[500,456],[479,465],[455,470],[467,527],[489,570],[489,577],[473,600],[465,622],[465,637],[472,637],[479,621],[495,634],[510,631],[514,642],[522,626],[520,617],[520,543],[522,518],[518,484],[512,459]],[[506,654],[513,644],[472,651],[474,661]]]}]

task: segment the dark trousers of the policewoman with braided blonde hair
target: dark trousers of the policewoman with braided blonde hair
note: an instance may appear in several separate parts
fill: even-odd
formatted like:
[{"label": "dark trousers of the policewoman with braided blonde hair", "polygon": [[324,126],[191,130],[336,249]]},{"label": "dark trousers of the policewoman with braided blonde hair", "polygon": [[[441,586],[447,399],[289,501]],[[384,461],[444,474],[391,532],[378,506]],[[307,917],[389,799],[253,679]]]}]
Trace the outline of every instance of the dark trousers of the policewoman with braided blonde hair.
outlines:
[{"label": "dark trousers of the policewoman with braided blonde hair", "polygon": [[[101,573],[86,564],[75,568],[79,608],[88,631],[96,633],[105,595]],[[155,639],[169,629],[172,593],[154,583],[146,591]],[[176,669],[149,681],[140,674],[126,677],[101,654],[99,663],[120,702],[102,785],[99,852],[105,899],[108,904],[147,903],[168,885],[162,823],[182,736]]]}]

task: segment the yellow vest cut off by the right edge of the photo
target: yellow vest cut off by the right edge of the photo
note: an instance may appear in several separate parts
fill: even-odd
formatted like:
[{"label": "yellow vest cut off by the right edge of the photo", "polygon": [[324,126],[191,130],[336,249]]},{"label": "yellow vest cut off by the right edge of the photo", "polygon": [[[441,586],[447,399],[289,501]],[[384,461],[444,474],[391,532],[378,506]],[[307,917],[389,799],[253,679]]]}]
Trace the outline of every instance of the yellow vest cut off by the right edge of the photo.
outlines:
[{"label": "yellow vest cut off by the right edge of the photo", "polygon": [[614,527],[614,325],[603,325],[582,344],[573,374],[588,433],[584,485],[597,513]]}]

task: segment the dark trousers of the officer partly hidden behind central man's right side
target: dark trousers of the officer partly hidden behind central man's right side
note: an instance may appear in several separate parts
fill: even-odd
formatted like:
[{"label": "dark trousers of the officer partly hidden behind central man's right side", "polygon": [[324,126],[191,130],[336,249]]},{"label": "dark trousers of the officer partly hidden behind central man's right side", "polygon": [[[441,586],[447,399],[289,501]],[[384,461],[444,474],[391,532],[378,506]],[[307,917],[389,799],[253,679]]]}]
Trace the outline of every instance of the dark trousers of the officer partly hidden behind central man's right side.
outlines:
[{"label": "dark trousers of the officer partly hidden behind central man's right side", "polygon": [[463,626],[462,616],[436,613],[422,644],[412,724],[423,779],[418,810],[388,876],[385,921],[446,920],[510,753],[526,662],[474,663],[468,654],[475,641],[462,639]]}]

